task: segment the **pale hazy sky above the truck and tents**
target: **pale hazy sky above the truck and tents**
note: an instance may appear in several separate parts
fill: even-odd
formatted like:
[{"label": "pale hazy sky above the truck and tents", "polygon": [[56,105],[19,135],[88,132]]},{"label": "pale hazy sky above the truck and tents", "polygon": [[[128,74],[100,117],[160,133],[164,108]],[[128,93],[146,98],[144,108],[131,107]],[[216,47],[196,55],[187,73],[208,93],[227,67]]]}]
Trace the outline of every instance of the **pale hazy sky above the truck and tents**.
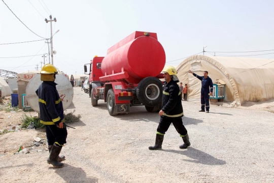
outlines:
[{"label": "pale hazy sky above the truck and tents", "polygon": [[[134,31],[157,33],[166,62],[201,52],[203,46],[206,51],[274,49],[274,1],[4,1],[31,31],[45,38],[50,37],[50,24],[44,19],[56,17],[54,33],[60,31],[53,37],[54,65],[67,74],[82,74],[94,55],[105,56],[109,47]],[[0,16],[0,44],[41,39],[2,1]],[[48,53],[44,41],[0,45],[0,57],[36,53]],[[273,54],[250,57],[274,57],[274,51],[220,54],[262,53]],[[41,66],[41,55],[30,58],[0,58],[0,68],[20,73]],[[177,66],[182,60],[168,64]]]}]

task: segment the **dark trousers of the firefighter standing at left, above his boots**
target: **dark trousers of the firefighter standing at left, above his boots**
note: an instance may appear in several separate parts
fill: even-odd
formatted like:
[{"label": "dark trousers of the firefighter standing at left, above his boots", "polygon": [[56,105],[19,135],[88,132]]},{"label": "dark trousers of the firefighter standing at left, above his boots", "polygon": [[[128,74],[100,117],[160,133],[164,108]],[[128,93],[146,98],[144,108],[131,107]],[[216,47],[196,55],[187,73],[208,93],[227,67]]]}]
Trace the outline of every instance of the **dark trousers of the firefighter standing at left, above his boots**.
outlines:
[{"label": "dark trousers of the firefighter standing at left, above his boots", "polygon": [[66,128],[57,128],[57,125],[46,125],[46,134],[48,139],[48,144],[63,146],[66,143],[67,131]]}]

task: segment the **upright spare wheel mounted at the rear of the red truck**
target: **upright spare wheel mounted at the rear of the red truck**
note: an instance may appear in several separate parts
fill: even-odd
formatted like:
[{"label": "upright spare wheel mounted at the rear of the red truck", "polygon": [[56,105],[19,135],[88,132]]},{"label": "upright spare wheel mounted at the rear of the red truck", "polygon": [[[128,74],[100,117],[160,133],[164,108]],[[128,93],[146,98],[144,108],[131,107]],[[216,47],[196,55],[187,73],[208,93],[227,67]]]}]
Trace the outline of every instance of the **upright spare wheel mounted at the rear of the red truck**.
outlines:
[{"label": "upright spare wheel mounted at the rear of the red truck", "polygon": [[137,97],[148,107],[158,106],[162,100],[163,84],[155,77],[146,77],[138,84]]}]

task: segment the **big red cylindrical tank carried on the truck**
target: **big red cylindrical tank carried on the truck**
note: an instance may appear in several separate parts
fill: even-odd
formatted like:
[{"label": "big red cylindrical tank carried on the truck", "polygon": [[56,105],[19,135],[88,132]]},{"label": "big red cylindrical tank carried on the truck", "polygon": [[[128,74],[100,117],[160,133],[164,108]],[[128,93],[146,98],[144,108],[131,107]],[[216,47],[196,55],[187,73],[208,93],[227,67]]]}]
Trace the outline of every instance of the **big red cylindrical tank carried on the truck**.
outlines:
[{"label": "big red cylindrical tank carried on the truck", "polygon": [[[120,44],[117,43],[113,47],[118,48],[111,50],[102,60],[103,76],[127,72],[129,77],[134,78],[133,80],[140,80],[159,75],[165,64],[165,52],[155,37],[157,38],[156,34],[154,38],[152,36],[140,36],[136,39],[133,37],[129,41],[128,36],[124,42],[122,40]],[[124,44],[125,42],[127,43]]]}]

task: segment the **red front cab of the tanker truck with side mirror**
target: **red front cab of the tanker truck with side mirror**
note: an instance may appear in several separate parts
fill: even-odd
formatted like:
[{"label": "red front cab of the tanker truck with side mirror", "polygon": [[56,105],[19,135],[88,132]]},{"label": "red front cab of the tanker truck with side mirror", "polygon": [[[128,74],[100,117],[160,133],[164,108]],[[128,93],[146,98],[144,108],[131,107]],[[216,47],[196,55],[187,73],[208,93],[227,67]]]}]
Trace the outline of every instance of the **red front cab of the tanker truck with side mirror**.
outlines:
[{"label": "red front cab of the tanker truck with side mirror", "polygon": [[98,57],[95,55],[94,58],[90,60],[90,64],[85,64],[84,66],[85,74],[89,75],[89,97],[92,88],[104,85],[104,83],[102,83],[99,79],[99,77],[103,76],[101,71],[102,59],[104,59],[104,57]]}]

